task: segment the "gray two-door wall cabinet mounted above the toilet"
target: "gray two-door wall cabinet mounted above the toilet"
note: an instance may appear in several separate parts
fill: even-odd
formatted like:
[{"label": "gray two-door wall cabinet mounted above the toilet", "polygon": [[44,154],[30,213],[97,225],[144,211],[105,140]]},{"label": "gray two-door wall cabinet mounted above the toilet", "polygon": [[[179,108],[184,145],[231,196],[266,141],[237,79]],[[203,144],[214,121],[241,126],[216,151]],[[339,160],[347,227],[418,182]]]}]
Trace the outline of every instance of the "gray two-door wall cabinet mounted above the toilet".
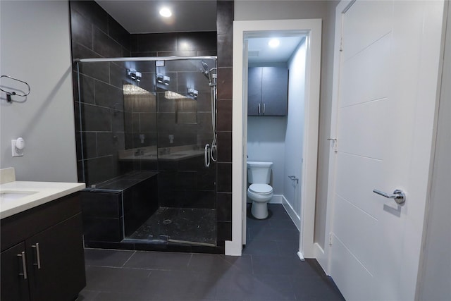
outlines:
[{"label": "gray two-door wall cabinet mounted above the toilet", "polygon": [[247,73],[247,83],[248,116],[287,115],[287,68],[250,67]]}]

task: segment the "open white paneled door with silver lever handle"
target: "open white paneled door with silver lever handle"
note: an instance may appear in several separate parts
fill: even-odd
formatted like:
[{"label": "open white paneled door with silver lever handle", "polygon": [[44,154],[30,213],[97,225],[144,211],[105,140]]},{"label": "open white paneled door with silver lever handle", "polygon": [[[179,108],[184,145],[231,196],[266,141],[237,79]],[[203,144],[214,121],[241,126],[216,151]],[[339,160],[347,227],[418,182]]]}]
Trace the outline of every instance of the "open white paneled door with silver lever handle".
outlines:
[{"label": "open white paneled door with silver lever handle", "polygon": [[348,301],[414,300],[443,2],[355,1],[337,16],[330,275]]}]

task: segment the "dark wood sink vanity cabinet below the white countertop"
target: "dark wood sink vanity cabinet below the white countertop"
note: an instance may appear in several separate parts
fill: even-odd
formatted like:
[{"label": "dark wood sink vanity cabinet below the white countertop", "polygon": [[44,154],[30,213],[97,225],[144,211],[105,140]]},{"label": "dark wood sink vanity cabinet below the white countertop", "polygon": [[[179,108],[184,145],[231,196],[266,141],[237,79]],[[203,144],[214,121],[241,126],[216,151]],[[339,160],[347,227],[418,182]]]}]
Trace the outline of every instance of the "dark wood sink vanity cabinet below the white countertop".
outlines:
[{"label": "dark wood sink vanity cabinet below the white countertop", "polygon": [[86,285],[78,192],[1,220],[1,301],[72,301]]}]

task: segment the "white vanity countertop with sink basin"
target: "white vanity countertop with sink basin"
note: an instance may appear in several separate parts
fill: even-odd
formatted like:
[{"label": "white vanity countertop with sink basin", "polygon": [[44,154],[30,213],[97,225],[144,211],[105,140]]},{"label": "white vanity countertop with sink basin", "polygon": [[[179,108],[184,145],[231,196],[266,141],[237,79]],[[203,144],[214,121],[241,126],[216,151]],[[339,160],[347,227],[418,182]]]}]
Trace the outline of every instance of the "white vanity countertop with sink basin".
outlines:
[{"label": "white vanity countertop with sink basin", "polygon": [[[13,181],[0,185],[0,194],[19,195],[16,199],[0,200],[0,218],[70,195],[85,188],[85,183]],[[23,194],[23,196],[21,195]]]}]

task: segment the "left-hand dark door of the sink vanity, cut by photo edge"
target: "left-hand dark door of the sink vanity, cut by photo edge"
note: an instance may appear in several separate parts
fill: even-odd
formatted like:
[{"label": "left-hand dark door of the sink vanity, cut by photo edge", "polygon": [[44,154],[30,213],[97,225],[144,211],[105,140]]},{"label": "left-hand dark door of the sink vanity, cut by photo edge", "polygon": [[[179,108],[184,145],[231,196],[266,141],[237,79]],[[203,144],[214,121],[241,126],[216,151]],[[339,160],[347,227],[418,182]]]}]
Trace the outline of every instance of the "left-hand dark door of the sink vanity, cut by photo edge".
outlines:
[{"label": "left-hand dark door of the sink vanity, cut by photo edge", "polygon": [[[1,252],[1,301],[28,301],[28,274],[24,274],[25,242]],[[25,269],[27,268],[25,264]],[[25,279],[26,278],[26,279]]]}]

